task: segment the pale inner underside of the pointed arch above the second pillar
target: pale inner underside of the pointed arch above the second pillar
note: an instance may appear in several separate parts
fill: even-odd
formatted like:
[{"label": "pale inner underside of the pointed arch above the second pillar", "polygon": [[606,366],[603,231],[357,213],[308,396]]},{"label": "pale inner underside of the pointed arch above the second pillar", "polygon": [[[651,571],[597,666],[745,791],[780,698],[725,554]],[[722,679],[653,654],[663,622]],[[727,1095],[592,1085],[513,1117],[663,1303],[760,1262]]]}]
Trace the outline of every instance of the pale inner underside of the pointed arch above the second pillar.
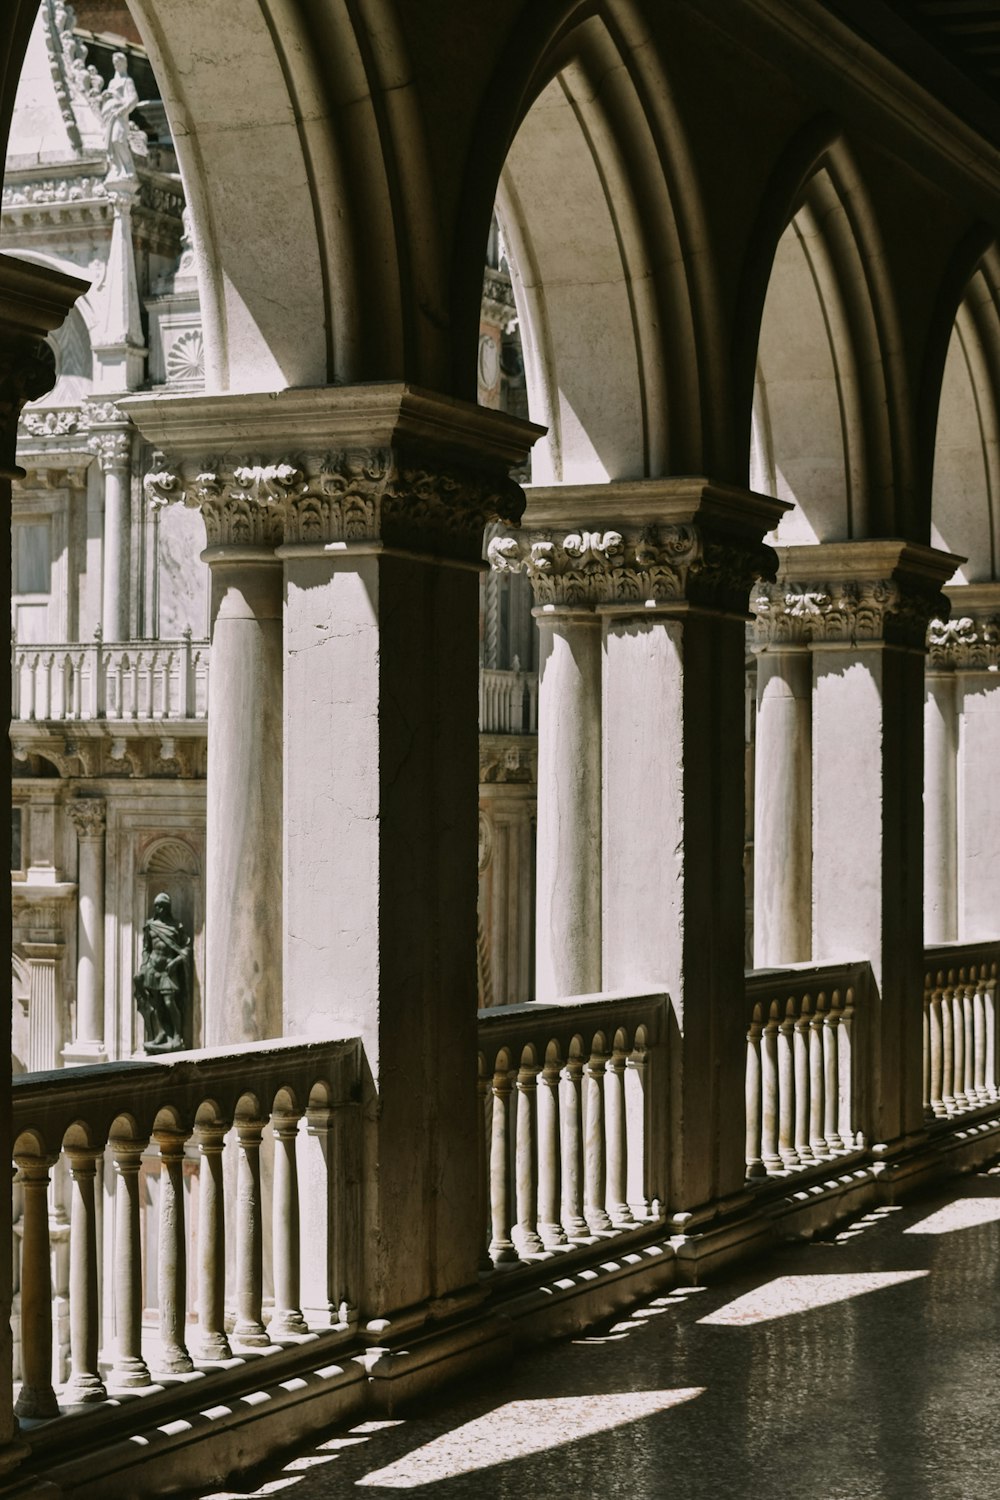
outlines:
[{"label": "pale inner underside of the pointed arch above the second pillar", "polygon": [[549,429],[532,482],[697,471],[696,318],[669,152],[601,20],[540,76],[496,190],[529,416]]}]

